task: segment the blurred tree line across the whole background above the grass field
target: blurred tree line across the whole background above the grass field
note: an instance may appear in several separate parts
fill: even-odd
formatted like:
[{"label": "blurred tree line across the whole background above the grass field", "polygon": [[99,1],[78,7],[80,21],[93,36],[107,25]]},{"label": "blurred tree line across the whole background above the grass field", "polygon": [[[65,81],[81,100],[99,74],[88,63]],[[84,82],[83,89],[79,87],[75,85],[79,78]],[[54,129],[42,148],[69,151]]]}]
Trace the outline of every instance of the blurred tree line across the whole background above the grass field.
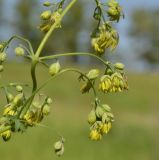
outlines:
[{"label": "blurred tree line across the whole background above the grass field", "polygon": [[[11,22],[6,22],[6,18],[3,17],[4,14],[2,13],[4,13],[3,8],[7,1],[9,0],[0,0],[0,24],[10,23],[9,25],[15,29],[16,33],[30,39],[34,49],[36,49],[43,37],[43,34],[37,29],[40,24],[39,15],[44,9],[42,4],[39,1],[14,0],[16,3],[13,6],[13,10],[16,18]],[[47,43],[43,54],[49,55],[74,51],[90,52],[89,34],[93,30],[93,24],[95,23],[93,18],[91,19],[93,13],[89,16],[89,8],[91,7],[87,6],[85,0],[78,1],[78,4],[68,13],[67,17],[69,18],[66,17],[63,20],[63,29],[54,32],[52,40]],[[139,8],[134,10],[128,36],[133,37],[135,43],[132,49],[136,49],[136,52],[140,55],[139,58],[146,60],[151,66],[158,63],[159,9],[144,10]],[[77,62],[78,58],[67,57],[67,61]],[[88,62],[91,61],[88,59]]]}]

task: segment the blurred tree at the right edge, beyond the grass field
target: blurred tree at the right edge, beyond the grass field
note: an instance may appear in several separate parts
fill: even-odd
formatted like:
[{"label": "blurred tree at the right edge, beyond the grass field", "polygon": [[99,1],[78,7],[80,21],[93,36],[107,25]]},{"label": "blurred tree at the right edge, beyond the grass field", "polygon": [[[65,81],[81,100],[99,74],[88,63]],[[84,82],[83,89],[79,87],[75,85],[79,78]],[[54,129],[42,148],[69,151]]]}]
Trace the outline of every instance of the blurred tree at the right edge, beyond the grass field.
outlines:
[{"label": "blurred tree at the right edge, beyond the grass field", "polygon": [[132,14],[130,36],[135,38],[135,47],[140,58],[152,67],[159,62],[159,9],[137,9]]}]

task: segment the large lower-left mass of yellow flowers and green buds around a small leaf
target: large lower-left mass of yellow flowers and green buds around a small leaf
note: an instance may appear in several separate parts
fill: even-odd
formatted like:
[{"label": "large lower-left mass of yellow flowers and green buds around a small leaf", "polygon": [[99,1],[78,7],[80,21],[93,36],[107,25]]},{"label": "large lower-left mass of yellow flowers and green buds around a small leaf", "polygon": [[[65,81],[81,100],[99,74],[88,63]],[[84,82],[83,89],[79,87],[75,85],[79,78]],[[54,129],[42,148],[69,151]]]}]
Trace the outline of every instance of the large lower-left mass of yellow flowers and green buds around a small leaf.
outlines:
[{"label": "large lower-left mass of yellow flowers and green buds around a small leaf", "polygon": [[[9,89],[16,89],[12,94]],[[29,126],[40,123],[44,116],[50,113],[51,98],[43,96],[41,100],[33,101],[29,105],[29,98],[23,92],[23,87],[17,84],[9,84],[4,87],[7,104],[4,106],[3,116],[0,118],[0,136],[8,141],[14,132],[24,132]],[[25,107],[28,105],[28,110]]]}]

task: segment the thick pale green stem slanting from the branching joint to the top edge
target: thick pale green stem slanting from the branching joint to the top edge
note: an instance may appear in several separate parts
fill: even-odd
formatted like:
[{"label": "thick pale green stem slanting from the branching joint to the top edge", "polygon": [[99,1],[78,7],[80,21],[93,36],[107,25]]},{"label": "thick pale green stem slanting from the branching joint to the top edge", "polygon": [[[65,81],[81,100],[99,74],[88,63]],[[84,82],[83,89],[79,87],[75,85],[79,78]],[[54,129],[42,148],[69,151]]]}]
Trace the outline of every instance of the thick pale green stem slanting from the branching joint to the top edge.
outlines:
[{"label": "thick pale green stem slanting from the branching joint to the top edge", "polygon": [[49,39],[49,37],[51,36],[52,32],[56,29],[57,25],[61,22],[62,18],[65,16],[65,14],[70,10],[70,8],[74,5],[74,3],[76,2],[77,0],[72,0],[68,6],[65,8],[65,10],[62,12],[61,14],[61,17],[60,19],[58,19],[53,25],[52,27],[50,28],[50,30],[46,33],[45,37],[43,38],[43,40],[41,41],[36,53],[35,53],[35,56],[38,58],[47,42],[47,40]]}]

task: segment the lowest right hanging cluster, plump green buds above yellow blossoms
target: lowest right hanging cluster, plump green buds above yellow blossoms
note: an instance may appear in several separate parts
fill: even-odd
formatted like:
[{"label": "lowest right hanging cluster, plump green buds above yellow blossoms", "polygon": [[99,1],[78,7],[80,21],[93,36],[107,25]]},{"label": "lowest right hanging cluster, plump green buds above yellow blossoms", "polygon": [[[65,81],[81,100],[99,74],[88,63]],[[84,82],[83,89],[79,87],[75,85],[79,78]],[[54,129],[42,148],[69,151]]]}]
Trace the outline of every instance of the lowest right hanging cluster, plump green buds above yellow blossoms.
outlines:
[{"label": "lowest right hanging cluster, plump green buds above yellow blossoms", "polygon": [[111,108],[107,104],[98,104],[88,115],[88,123],[91,125],[91,140],[101,140],[103,134],[110,131],[114,121],[114,116],[110,111]]}]

